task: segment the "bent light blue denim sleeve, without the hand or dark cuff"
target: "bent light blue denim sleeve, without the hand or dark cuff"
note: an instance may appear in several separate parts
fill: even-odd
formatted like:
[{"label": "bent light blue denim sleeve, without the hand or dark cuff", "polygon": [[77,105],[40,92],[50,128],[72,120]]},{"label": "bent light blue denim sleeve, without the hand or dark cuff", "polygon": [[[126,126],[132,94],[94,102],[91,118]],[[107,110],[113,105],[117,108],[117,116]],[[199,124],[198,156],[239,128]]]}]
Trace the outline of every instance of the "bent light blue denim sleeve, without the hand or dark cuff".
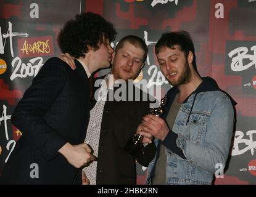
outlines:
[{"label": "bent light blue denim sleeve, without the hand or dark cuff", "polygon": [[229,98],[223,97],[216,103],[207,121],[204,145],[192,143],[180,134],[176,141],[190,163],[212,174],[217,170],[216,164],[225,167],[234,124],[234,109]]}]

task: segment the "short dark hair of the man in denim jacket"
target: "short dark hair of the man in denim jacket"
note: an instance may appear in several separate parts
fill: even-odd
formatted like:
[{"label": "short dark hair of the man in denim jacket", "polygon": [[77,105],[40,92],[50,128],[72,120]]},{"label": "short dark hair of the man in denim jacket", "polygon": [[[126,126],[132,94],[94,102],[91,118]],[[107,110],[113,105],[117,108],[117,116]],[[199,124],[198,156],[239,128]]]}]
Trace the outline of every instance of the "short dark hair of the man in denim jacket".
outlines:
[{"label": "short dark hair of the man in denim jacket", "polygon": [[180,50],[184,52],[186,57],[188,57],[189,51],[192,52],[194,56],[192,65],[194,67],[194,70],[196,70],[196,72],[198,73],[194,44],[188,31],[180,30],[163,33],[159,41],[157,41],[157,44],[155,44],[155,54],[158,54],[160,50],[164,47],[175,49],[175,45],[180,46]]}]

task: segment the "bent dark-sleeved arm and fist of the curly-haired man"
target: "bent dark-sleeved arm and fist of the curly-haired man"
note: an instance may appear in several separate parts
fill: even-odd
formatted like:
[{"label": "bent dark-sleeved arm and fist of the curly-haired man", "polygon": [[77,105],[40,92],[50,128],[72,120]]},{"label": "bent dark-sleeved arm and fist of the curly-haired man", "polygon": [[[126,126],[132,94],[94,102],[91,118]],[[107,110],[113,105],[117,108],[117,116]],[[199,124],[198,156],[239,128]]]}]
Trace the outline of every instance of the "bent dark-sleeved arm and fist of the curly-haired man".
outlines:
[{"label": "bent dark-sleeved arm and fist of the curly-haired man", "polygon": [[44,64],[15,108],[11,121],[44,159],[54,158],[59,151],[73,166],[81,167],[88,159],[93,160],[88,148],[83,144],[70,145],[43,118],[67,81],[65,68],[59,64],[62,61],[58,58],[51,58]]}]

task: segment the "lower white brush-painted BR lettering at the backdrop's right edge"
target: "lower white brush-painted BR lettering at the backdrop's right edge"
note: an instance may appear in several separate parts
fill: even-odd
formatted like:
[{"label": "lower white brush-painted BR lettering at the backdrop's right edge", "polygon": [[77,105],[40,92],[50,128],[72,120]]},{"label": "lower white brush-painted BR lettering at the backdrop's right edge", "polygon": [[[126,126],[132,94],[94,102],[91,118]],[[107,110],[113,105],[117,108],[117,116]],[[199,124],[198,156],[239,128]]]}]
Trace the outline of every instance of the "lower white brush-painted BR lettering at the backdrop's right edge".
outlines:
[{"label": "lower white brush-painted BR lettering at the backdrop's right edge", "polygon": [[250,151],[253,156],[256,150],[256,140],[254,140],[256,139],[255,137],[256,130],[247,131],[246,136],[244,136],[244,132],[236,131],[231,155],[242,155],[247,151]]}]

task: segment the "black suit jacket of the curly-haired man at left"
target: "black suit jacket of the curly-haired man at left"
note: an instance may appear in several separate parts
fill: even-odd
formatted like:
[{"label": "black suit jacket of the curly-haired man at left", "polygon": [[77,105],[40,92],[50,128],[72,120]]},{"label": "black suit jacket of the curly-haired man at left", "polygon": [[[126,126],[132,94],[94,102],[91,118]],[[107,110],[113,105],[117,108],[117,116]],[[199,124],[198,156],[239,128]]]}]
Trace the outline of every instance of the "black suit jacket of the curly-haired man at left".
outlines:
[{"label": "black suit jacket of the curly-haired man at left", "polygon": [[[47,60],[15,108],[11,121],[22,136],[4,167],[2,183],[81,183],[81,170],[57,152],[67,142],[77,145],[85,140],[88,76],[75,63],[77,69],[72,70],[59,58]],[[31,178],[35,164],[39,177]]]}]

